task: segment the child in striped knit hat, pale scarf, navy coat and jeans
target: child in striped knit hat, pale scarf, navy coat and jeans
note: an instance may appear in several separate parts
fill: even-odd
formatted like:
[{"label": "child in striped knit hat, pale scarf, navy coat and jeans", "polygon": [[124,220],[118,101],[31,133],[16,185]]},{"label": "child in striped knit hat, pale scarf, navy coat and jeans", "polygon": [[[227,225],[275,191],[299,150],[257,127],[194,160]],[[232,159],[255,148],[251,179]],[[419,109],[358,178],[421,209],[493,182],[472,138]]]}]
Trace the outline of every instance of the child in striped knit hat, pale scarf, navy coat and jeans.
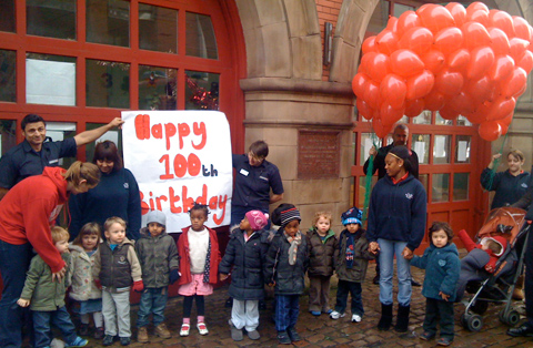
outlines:
[{"label": "child in striped knit hat, pale scarf, navy coat and jeans", "polygon": [[300,222],[295,206],[281,212],[281,229],[272,239],[264,265],[264,279],[274,287],[275,329],[281,345],[300,340],[295,326],[309,264],[309,240],[300,232]]}]

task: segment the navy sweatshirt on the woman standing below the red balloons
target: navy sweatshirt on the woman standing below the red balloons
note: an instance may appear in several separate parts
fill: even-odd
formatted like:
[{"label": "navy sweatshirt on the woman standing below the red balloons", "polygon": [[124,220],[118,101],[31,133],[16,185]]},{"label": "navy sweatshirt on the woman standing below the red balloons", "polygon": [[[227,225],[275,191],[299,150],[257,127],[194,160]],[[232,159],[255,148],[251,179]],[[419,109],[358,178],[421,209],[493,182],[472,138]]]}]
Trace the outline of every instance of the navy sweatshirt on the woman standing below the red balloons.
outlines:
[{"label": "navy sweatshirt on the woman standing below the red balloons", "polygon": [[413,175],[396,184],[386,175],[378,181],[370,197],[369,243],[378,238],[408,242],[414,250],[424,237],[426,211],[424,186]]}]

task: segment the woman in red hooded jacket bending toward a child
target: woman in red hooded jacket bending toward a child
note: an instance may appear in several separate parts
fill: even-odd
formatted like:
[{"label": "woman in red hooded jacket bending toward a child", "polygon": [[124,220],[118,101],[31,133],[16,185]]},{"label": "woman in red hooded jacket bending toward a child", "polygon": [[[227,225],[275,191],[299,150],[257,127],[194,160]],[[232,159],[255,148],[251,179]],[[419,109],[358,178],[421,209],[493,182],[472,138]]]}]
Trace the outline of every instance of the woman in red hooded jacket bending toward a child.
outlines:
[{"label": "woman in red hooded jacket bending toward a child", "polygon": [[[69,170],[46,167],[11,188],[0,201],[0,342],[20,347],[22,308],[17,306],[33,256],[32,248],[52,269],[52,279],[61,280],[66,264],[50,232],[69,194],[84,193],[97,186],[100,171],[92,163],[74,162]],[[9,318],[9,319],[7,319]]]}]

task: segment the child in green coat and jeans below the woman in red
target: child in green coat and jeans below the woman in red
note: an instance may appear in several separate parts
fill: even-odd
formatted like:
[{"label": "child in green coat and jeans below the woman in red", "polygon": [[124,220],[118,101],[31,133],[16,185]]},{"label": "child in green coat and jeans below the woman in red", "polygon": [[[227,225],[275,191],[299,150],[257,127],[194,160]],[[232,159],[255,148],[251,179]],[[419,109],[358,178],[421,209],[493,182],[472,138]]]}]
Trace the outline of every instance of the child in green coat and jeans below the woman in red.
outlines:
[{"label": "child in green coat and jeans below the woman in red", "polygon": [[[52,227],[52,240],[61,257],[69,264],[69,233],[59,226]],[[68,272],[70,272],[68,269]],[[53,279],[52,270],[37,255],[31,259],[30,269],[26,278],[24,288],[17,304],[21,307],[30,306],[33,317],[34,347],[50,347],[51,325],[56,325],[66,340],[64,347],[84,347],[87,339],[76,334],[76,327],[64,307],[67,291],[66,278]],[[9,318],[2,318],[9,320]]]}]

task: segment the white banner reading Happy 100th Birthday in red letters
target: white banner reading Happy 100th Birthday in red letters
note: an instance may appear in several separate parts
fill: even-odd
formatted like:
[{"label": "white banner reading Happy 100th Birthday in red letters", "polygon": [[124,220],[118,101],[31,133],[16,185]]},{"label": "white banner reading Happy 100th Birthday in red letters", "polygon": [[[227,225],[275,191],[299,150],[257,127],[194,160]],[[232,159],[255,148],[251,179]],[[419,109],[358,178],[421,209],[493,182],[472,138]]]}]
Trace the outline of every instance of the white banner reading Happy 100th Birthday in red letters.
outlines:
[{"label": "white banner reading Happy 100th Birthday in red letters", "polygon": [[143,226],[149,209],[167,215],[167,232],[191,224],[189,208],[209,205],[209,227],[230,224],[231,140],[218,111],[123,111],[124,166],[139,183]]}]

